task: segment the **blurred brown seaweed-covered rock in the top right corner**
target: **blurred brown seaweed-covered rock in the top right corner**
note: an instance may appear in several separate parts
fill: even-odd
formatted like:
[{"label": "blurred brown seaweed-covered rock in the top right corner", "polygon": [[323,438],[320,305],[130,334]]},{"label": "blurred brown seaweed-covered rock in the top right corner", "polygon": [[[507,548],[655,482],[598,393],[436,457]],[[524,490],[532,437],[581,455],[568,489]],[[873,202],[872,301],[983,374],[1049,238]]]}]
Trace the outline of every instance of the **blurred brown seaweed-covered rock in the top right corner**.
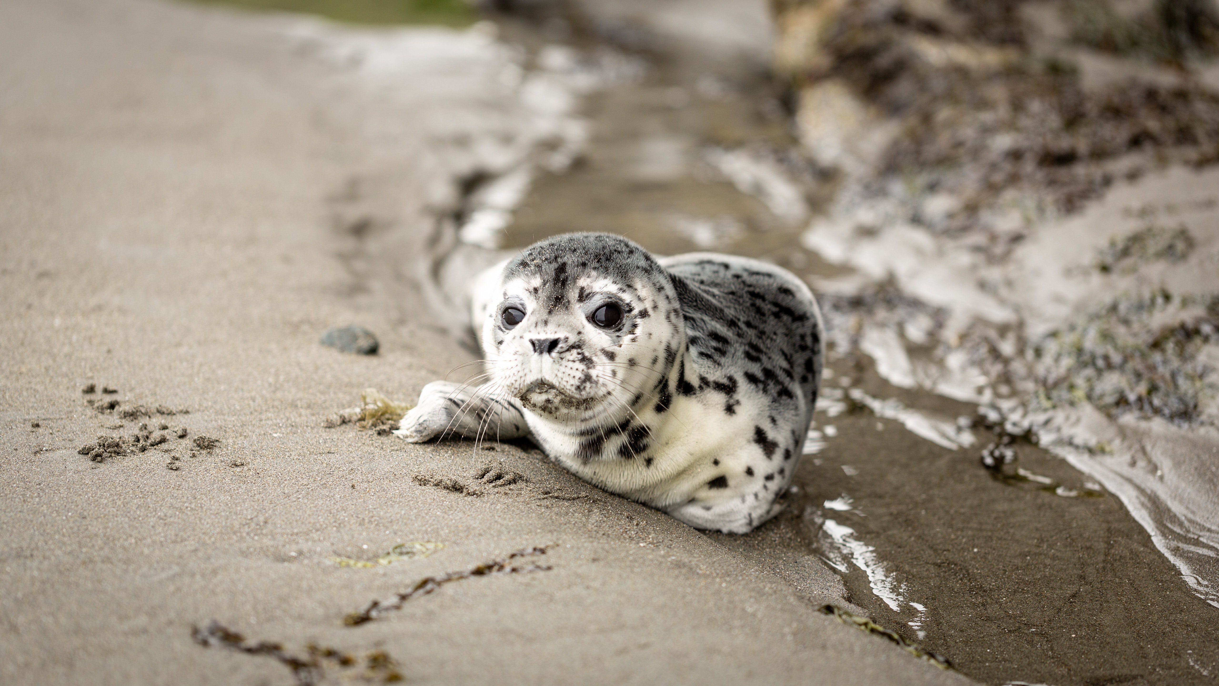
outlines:
[{"label": "blurred brown seaweed-covered rock in the top right corner", "polygon": [[[777,69],[801,93],[801,110],[805,94],[826,84],[848,91],[824,111],[817,108],[820,99],[807,99],[822,121],[801,134],[802,143],[811,150],[851,149],[850,141],[817,138],[858,129],[846,121],[825,123],[845,116],[835,112],[863,112],[873,119],[863,130],[892,132],[874,154],[859,152],[864,164],[848,184],[852,202],[886,201],[892,221],[936,233],[993,236],[1000,247],[991,257],[1002,257],[1011,242],[1000,239],[1023,228],[1012,225],[1018,223],[1012,208],[1024,222],[1070,213],[1115,180],[1169,163],[1219,161],[1219,93],[1181,69],[1173,72],[1176,78],[1086,89],[1069,51],[1035,50],[1041,41],[1025,35],[1036,29],[1022,21],[1018,0],[775,4],[785,46]],[[1112,13],[1111,5],[1074,0],[1059,15],[1070,28],[1084,21],[1086,6]],[[1147,17],[1131,21],[1154,24],[1143,33],[1178,45],[1157,54],[1219,51],[1219,19],[1202,2],[1153,5]],[[929,6],[940,11],[929,13]],[[807,28],[814,24],[819,30]],[[1076,40],[1086,43],[1081,35]],[[929,212],[931,196],[947,210]]]}]

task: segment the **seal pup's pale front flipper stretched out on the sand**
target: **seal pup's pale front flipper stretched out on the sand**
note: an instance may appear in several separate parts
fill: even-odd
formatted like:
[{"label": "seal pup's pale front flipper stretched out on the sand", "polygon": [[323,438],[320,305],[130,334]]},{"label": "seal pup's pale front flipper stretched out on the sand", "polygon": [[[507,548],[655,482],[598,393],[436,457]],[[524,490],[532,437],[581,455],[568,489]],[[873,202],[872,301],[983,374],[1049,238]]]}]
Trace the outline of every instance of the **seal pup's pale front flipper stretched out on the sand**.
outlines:
[{"label": "seal pup's pale front flipper stretched out on the sand", "polygon": [[412,444],[432,439],[519,439],[529,435],[521,409],[486,386],[433,381],[423,386],[419,403],[399,423],[396,435]]}]

